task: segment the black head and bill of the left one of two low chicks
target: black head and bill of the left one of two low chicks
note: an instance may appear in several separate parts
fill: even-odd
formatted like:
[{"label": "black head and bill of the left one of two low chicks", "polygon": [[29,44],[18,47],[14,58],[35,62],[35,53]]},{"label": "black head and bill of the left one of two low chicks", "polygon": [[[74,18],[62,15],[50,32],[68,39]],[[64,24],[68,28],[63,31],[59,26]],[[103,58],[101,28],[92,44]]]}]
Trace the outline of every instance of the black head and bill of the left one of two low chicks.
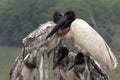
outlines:
[{"label": "black head and bill of the left one of two low chicks", "polygon": [[55,62],[53,69],[55,69],[55,67],[62,62],[62,60],[68,55],[68,53],[69,53],[69,50],[66,46],[62,46],[59,48],[57,61]]}]

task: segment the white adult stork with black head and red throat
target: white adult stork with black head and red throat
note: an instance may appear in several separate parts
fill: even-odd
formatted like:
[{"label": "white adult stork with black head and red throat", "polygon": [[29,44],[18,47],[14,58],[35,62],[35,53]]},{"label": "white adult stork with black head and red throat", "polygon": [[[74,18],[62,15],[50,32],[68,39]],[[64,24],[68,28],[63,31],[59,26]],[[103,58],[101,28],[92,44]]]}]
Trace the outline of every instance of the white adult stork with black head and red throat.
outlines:
[{"label": "white adult stork with black head and red throat", "polygon": [[58,30],[72,40],[83,55],[93,56],[108,70],[117,67],[117,59],[102,36],[84,20],[76,19],[74,11],[67,11],[46,38]]}]

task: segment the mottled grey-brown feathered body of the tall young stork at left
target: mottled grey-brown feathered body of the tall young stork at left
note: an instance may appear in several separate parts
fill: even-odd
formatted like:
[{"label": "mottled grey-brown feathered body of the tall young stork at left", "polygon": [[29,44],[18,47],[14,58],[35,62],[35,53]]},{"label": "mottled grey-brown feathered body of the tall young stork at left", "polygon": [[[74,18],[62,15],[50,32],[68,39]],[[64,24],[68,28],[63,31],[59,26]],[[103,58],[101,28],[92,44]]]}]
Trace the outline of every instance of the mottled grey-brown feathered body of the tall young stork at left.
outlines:
[{"label": "mottled grey-brown feathered body of the tall young stork at left", "polygon": [[55,24],[52,21],[41,24],[23,39],[23,49],[10,71],[10,80],[35,80],[40,56],[50,53],[60,41],[58,33],[46,39],[53,26]]}]

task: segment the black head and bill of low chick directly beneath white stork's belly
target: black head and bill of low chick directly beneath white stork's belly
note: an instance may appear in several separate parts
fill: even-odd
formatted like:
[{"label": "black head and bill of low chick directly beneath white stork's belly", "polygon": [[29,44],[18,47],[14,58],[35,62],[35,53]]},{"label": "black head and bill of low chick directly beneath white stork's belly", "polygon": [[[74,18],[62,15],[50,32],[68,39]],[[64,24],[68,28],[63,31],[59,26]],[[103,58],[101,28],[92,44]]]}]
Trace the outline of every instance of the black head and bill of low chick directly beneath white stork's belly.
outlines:
[{"label": "black head and bill of low chick directly beneath white stork's belly", "polygon": [[74,64],[69,68],[69,70],[72,69],[75,65],[80,65],[84,62],[84,55],[81,52],[79,52],[75,57]]}]

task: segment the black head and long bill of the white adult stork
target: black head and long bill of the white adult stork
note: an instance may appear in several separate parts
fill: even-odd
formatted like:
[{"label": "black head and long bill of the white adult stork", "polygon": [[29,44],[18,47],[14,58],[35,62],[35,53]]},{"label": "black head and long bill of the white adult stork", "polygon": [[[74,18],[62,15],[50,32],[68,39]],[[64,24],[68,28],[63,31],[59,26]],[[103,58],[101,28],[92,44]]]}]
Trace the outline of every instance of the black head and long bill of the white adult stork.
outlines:
[{"label": "black head and long bill of the white adult stork", "polygon": [[75,13],[72,10],[67,11],[65,15],[60,18],[57,25],[53,28],[53,30],[48,34],[46,38],[52,36],[59,29],[64,29],[66,27],[69,27],[74,20],[75,20]]}]

